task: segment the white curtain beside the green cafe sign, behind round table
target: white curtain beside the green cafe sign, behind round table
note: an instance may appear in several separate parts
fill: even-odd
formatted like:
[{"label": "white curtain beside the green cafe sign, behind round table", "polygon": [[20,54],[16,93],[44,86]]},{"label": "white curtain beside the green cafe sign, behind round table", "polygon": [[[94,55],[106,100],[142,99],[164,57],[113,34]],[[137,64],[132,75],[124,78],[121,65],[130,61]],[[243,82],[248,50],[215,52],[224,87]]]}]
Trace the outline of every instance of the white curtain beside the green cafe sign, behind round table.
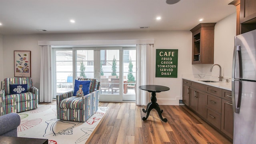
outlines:
[{"label": "white curtain beside the green cafe sign, behind round table", "polygon": [[139,86],[152,84],[153,79],[153,44],[137,44],[136,46],[136,105],[147,105],[151,93],[140,90]]}]

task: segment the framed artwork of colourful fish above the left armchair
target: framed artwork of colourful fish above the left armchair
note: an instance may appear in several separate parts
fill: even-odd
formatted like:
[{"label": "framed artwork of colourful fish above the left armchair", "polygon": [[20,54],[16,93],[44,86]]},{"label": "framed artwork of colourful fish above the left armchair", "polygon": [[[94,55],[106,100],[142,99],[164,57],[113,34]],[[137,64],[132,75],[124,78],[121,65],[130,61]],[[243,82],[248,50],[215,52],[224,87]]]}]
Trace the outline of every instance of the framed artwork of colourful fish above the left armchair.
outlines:
[{"label": "framed artwork of colourful fish above the left armchair", "polygon": [[31,77],[31,51],[14,51],[14,77]]}]

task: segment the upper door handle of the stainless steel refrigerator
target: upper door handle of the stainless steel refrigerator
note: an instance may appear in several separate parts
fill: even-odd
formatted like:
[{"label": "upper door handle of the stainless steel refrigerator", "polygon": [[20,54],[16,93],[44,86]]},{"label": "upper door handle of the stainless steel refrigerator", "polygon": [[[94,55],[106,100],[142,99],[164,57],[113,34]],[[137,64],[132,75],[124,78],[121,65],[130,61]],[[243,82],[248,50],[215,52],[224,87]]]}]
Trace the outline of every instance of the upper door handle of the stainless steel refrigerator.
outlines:
[{"label": "upper door handle of the stainless steel refrigerator", "polygon": [[[236,68],[236,57],[238,58],[238,68]],[[232,64],[232,78],[236,78],[236,73],[238,72],[239,78],[242,78],[242,53],[241,46],[234,46],[233,53],[233,64]]]}]

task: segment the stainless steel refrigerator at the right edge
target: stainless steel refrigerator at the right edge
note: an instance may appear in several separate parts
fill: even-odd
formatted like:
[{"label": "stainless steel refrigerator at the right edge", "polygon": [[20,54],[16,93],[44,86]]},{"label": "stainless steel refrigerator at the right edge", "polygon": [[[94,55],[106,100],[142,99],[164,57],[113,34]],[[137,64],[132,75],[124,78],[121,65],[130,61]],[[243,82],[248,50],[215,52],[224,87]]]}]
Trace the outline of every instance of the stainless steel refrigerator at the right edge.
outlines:
[{"label": "stainless steel refrigerator at the right edge", "polygon": [[256,144],[256,30],[235,36],[232,104],[233,144]]}]

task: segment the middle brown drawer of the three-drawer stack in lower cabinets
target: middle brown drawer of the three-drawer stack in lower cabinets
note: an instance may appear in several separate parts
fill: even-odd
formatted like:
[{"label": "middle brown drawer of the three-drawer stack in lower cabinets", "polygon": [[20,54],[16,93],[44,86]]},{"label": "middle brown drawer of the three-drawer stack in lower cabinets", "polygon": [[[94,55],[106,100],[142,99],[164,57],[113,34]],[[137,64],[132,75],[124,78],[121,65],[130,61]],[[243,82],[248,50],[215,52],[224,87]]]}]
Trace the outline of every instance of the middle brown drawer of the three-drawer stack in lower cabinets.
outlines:
[{"label": "middle brown drawer of the three-drawer stack in lower cabinets", "polygon": [[214,110],[214,111],[216,111],[220,114],[221,114],[221,101],[222,101],[222,98],[207,94],[207,106],[208,106],[208,108],[211,108],[212,110]]}]

